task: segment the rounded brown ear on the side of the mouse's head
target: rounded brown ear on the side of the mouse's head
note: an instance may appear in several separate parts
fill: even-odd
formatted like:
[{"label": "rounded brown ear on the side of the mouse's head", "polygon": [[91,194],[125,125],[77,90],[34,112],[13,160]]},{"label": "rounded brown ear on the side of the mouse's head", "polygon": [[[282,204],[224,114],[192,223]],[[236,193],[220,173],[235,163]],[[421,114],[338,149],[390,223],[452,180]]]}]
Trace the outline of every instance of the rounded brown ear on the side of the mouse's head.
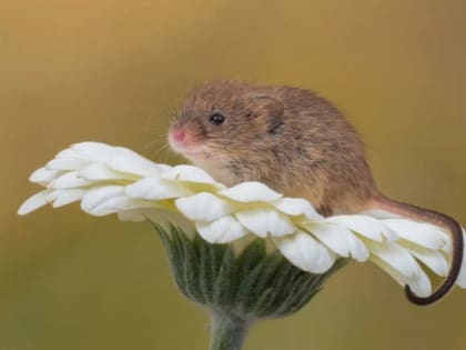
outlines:
[{"label": "rounded brown ear on the side of the mouse's head", "polygon": [[263,119],[267,126],[267,132],[274,133],[277,131],[280,126],[283,124],[285,112],[282,101],[267,94],[254,94],[249,100],[253,118]]}]

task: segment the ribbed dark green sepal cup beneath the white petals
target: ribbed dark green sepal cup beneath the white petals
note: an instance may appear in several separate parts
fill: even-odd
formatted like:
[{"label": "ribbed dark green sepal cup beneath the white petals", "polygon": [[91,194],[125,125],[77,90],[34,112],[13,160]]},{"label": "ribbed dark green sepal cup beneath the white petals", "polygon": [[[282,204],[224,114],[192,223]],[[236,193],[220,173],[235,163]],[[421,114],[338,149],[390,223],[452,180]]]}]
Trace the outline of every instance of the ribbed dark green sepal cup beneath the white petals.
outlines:
[{"label": "ribbed dark green sepal cup beneath the white petals", "polygon": [[214,244],[199,233],[189,238],[179,228],[153,223],[166,249],[180,291],[215,313],[252,321],[301,310],[326,279],[346,263],[338,259],[322,274],[291,264],[280,251],[267,253],[263,239],[235,254],[232,244]]}]

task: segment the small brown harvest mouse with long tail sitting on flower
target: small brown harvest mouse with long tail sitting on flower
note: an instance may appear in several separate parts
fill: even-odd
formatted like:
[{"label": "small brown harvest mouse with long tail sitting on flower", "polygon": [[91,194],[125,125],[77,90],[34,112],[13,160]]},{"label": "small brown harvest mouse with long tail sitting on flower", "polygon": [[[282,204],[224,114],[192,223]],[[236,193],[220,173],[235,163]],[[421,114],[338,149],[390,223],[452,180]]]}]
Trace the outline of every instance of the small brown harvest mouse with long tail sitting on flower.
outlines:
[{"label": "small brown harvest mouse with long tail sitting on flower", "polygon": [[216,79],[196,86],[170,123],[169,143],[216,181],[260,181],[307,199],[327,217],[383,210],[449,231],[453,259],[428,297],[405,286],[407,299],[432,304],[454,287],[463,262],[463,229],[452,217],[389,199],[378,189],[365,144],[328,100],[302,88]]}]

